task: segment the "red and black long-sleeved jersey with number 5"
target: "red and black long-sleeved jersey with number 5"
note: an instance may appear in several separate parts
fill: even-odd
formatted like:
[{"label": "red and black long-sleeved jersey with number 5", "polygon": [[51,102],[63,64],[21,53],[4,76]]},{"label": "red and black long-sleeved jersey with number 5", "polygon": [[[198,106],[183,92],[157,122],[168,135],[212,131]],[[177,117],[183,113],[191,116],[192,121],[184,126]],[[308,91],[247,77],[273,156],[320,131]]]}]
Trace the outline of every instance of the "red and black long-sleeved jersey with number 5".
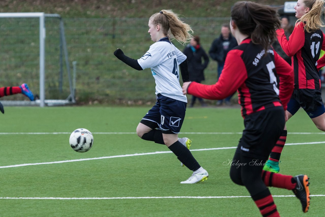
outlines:
[{"label": "red and black long-sleeved jersey with number 5", "polygon": [[217,83],[192,82],[187,92],[205,99],[220,100],[236,90],[243,117],[272,104],[281,106],[281,102],[286,109],[293,91],[293,70],[271,47],[266,51],[247,38],[228,52]]}]

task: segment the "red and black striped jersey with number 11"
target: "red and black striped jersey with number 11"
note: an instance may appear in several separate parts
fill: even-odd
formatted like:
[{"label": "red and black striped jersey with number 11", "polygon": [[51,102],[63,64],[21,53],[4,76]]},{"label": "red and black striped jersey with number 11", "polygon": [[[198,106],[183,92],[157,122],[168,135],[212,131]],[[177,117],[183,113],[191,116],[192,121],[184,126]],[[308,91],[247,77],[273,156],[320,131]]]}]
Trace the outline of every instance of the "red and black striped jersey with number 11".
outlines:
[{"label": "red and black striped jersey with number 11", "polygon": [[277,30],[277,37],[283,51],[292,57],[294,88],[320,89],[317,61],[320,50],[325,49],[324,33],[321,30],[308,33],[304,26],[298,22],[289,40],[283,29]]}]

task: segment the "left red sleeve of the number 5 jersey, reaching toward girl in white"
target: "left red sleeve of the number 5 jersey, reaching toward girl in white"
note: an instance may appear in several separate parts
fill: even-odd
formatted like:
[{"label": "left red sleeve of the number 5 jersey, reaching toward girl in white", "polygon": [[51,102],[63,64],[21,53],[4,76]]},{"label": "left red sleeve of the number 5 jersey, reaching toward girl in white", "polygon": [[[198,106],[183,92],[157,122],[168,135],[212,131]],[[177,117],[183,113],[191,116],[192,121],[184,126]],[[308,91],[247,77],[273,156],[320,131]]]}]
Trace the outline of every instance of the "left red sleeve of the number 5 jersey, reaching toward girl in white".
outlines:
[{"label": "left red sleeve of the number 5 jersey, reaching toward girl in white", "polygon": [[209,99],[222,100],[233,94],[247,79],[247,71],[240,55],[242,50],[230,50],[227,53],[224,68],[214,85],[204,85],[196,82],[188,86],[188,94]]}]

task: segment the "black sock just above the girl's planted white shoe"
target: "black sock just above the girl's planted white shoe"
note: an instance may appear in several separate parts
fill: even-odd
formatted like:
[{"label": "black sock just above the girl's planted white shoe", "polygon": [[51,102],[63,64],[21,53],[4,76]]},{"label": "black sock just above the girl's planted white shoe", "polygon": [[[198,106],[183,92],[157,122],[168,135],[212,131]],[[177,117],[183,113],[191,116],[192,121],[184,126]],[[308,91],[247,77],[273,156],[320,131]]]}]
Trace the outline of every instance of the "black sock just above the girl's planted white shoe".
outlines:
[{"label": "black sock just above the girl's planted white shoe", "polygon": [[177,156],[177,159],[182,162],[188,169],[195,171],[201,167],[200,164],[193,157],[192,153],[182,143],[177,141],[168,148]]}]

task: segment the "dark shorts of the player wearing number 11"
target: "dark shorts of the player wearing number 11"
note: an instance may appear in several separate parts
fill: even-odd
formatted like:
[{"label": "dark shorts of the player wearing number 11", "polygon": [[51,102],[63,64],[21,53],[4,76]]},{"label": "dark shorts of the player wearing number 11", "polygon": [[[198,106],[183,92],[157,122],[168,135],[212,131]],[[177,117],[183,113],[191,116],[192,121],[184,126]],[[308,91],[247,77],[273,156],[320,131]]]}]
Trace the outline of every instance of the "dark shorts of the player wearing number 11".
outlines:
[{"label": "dark shorts of the player wearing number 11", "polygon": [[325,107],[320,90],[317,89],[293,89],[287,111],[291,115],[296,114],[302,107],[310,118],[318,117],[325,113]]}]

